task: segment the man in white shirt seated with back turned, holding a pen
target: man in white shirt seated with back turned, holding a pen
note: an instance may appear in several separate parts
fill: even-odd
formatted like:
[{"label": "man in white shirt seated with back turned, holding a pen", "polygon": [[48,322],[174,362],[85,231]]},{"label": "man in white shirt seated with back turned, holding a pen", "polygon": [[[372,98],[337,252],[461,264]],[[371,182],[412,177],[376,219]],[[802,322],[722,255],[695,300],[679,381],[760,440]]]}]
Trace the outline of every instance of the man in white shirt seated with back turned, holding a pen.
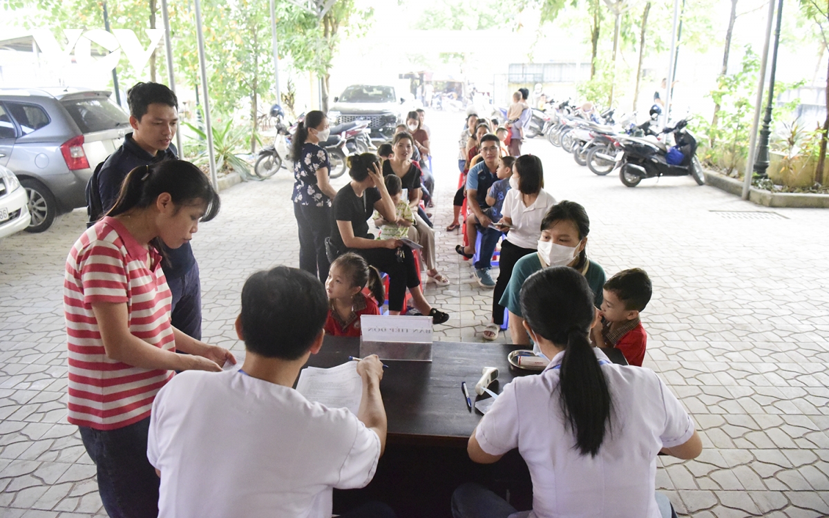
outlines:
[{"label": "man in white shirt seated with back turned, holding a pen", "polygon": [[[153,404],[147,456],[161,477],[158,516],[328,518],[332,488],[371,482],[386,431],[377,356],[354,364],[363,383],[356,416],[291,388],[322,347],[327,312],[325,288],[302,270],[248,278],[235,322],[242,369],[183,372]],[[341,516],[394,513],[375,503]]]}]

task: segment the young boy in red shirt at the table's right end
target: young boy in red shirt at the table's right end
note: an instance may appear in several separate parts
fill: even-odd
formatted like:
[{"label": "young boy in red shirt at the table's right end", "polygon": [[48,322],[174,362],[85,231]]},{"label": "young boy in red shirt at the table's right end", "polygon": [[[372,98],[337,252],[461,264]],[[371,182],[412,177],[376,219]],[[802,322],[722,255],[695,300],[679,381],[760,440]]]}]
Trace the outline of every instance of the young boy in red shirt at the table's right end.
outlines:
[{"label": "young boy in red shirt at the table's right end", "polygon": [[604,283],[601,326],[595,326],[590,337],[594,346],[614,347],[628,364],[642,366],[645,359],[647,333],[639,321],[639,312],[645,309],[653,292],[651,279],[645,270],[622,270]]}]

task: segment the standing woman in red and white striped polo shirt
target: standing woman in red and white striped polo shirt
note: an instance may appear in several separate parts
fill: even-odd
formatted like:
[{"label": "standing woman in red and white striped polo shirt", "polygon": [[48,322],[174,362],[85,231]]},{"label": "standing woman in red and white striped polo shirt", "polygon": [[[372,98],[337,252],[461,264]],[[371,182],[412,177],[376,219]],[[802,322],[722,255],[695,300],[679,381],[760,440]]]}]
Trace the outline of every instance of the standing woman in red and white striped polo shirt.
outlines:
[{"label": "standing woman in red and white striped polo shirt", "polygon": [[166,259],[158,252],[160,242],[175,249],[191,240],[219,206],[219,195],[189,162],[137,167],[66,259],[68,420],[97,466],[109,516],[158,515],[147,433],[153,399],[173,371],[235,363],[230,351],[172,327]]}]

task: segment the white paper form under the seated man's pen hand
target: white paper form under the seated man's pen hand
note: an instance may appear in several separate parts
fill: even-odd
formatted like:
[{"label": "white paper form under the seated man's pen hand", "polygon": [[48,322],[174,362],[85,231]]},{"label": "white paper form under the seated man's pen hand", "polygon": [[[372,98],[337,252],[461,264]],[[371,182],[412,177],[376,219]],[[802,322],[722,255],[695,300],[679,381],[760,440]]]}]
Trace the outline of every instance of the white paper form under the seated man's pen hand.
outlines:
[{"label": "white paper form under the seated man's pen hand", "polygon": [[357,362],[347,361],[330,369],[306,367],[299,373],[297,391],[308,401],[322,403],[331,409],[346,408],[356,415],[362,399],[362,378]]}]

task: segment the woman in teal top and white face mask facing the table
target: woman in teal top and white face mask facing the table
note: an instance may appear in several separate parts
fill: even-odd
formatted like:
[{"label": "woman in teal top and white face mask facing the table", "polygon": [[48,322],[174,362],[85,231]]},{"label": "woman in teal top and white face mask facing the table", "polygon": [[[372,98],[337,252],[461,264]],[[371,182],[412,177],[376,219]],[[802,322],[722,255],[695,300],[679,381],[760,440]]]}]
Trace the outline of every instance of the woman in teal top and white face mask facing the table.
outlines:
[{"label": "woman in teal top and white face mask facing the table", "polygon": [[526,278],[549,266],[570,266],[587,279],[594,293],[596,307],[604,300],[602,288],[607,277],[598,263],[587,258],[587,235],[590,219],[584,207],[574,201],[560,201],[550,207],[541,220],[541,238],[538,252],[518,259],[512,269],[510,282],[501,298],[501,305],[510,312],[510,336],[512,343],[529,345],[530,336],[524,329],[521,313],[521,286]]}]

